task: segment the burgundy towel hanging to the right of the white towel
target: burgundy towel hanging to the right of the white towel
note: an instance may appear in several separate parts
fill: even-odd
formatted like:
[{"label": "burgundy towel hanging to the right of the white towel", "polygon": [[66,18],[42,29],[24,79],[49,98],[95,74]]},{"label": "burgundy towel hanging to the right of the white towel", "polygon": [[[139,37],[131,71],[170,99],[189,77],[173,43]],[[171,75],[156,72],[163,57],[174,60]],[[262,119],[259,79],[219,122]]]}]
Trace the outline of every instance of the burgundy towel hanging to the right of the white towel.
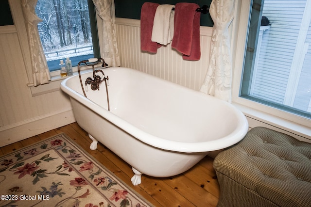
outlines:
[{"label": "burgundy towel hanging to the right of the white towel", "polygon": [[195,3],[176,3],[172,48],[183,54],[184,60],[197,61],[201,57],[200,17]]}]

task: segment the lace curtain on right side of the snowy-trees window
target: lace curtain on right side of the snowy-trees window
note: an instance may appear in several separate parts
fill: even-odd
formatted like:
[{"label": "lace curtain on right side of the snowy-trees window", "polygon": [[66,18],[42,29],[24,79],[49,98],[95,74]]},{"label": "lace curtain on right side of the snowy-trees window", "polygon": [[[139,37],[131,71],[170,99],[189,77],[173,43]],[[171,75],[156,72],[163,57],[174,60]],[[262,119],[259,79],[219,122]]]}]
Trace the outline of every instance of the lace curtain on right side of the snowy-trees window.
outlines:
[{"label": "lace curtain on right side of the snowy-trees window", "polygon": [[120,66],[117,36],[111,17],[112,0],[93,0],[93,3],[102,24],[104,45],[101,47],[101,56],[109,66]]}]

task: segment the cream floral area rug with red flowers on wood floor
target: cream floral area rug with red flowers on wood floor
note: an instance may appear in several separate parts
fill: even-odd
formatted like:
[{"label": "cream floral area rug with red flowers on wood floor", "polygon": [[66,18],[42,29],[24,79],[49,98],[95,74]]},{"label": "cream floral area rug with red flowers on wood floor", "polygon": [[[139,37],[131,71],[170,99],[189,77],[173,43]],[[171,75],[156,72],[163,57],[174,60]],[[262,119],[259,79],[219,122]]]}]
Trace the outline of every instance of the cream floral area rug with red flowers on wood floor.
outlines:
[{"label": "cream floral area rug with red flowers on wood floor", "polygon": [[0,158],[0,207],[147,207],[66,134]]}]

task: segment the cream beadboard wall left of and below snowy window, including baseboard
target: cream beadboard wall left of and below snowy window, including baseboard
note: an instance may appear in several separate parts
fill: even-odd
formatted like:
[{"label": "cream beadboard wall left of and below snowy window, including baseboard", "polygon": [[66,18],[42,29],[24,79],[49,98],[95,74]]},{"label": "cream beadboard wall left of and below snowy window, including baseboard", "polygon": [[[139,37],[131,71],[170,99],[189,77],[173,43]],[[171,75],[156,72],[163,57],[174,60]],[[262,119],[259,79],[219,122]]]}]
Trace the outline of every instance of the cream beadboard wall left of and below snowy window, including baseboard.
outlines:
[{"label": "cream beadboard wall left of and below snowy window, including baseboard", "polygon": [[61,91],[32,96],[14,26],[0,27],[0,146],[75,121]]}]

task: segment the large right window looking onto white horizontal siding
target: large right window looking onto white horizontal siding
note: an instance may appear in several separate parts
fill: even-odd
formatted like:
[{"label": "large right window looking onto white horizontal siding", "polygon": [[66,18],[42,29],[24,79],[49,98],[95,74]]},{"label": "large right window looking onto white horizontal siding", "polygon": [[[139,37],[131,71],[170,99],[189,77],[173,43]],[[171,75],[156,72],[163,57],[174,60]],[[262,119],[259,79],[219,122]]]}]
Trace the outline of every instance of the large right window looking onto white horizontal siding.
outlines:
[{"label": "large right window looking onto white horizontal siding", "polygon": [[253,0],[240,96],[311,118],[311,0]]}]

